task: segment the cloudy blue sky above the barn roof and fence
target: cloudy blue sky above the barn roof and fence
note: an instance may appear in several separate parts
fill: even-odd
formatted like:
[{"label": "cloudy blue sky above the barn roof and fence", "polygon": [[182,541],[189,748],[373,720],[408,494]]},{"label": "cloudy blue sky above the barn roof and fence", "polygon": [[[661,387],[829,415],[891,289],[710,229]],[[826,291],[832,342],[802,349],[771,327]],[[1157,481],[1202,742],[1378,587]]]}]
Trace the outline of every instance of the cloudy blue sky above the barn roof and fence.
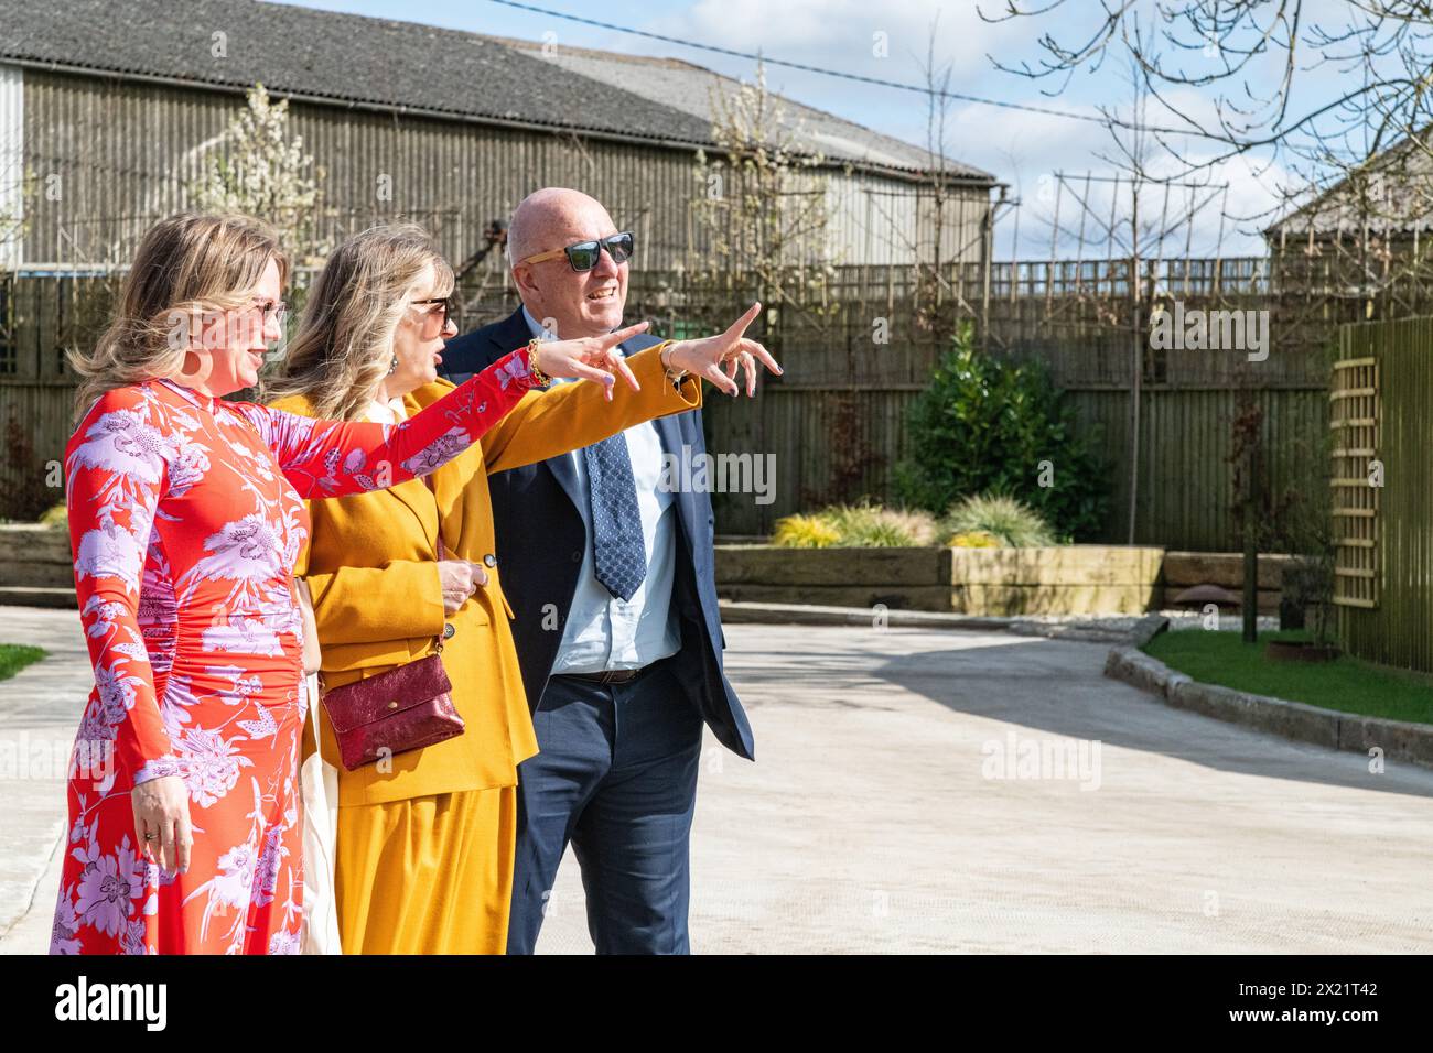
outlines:
[{"label": "cloudy blue sky above the barn roof and fence", "polygon": [[[549,40],[559,47],[679,57],[734,77],[751,77],[755,67],[749,59],[586,26],[492,0],[427,4],[400,0],[301,1],[308,7]],[[1003,0],[982,3],[987,13],[1003,6]],[[1082,70],[1069,79],[1058,96],[1046,93],[1058,83],[1005,73],[990,59],[997,56],[1007,64],[1022,59],[1035,63],[1042,54],[1037,42],[1043,33],[1052,33],[1062,43],[1088,37],[1096,27],[1091,16],[1099,10],[1093,0],[1070,0],[1052,14],[1003,23],[983,20],[974,0],[608,0],[600,6],[575,0],[532,0],[532,6],[734,52],[759,53],[767,59],[909,85],[924,83],[923,66],[933,42],[937,64],[949,63],[952,67],[950,90],[956,93],[1088,115],[1102,103],[1128,110],[1132,100],[1128,72],[1115,54],[1101,69]],[[876,54],[877,34],[886,34],[884,56]],[[1191,52],[1185,63],[1201,60],[1212,63],[1214,57]],[[771,66],[767,76],[772,89],[802,103],[917,145],[927,142],[927,105],[919,93]],[[1187,112],[1209,112],[1209,99],[1194,90],[1175,96],[1175,100]],[[1149,113],[1146,120],[1169,123],[1159,113]],[[1052,173],[1075,176],[1083,192],[1086,172],[1096,178],[1115,172],[1109,160],[1115,153],[1109,132],[1095,123],[966,100],[952,102],[947,122],[950,156],[993,172],[1009,183],[1012,198],[1020,201],[1019,225],[1013,212],[1006,212],[997,228],[996,252],[1002,258],[1009,258],[1012,252],[1020,258],[1049,255],[1055,201]],[[1197,143],[1191,143],[1194,148]],[[1156,172],[1171,170],[1172,166],[1172,160],[1161,160],[1159,156],[1151,160]],[[1255,232],[1271,218],[1278,188],[1288,185],[1288,175],[1277,165],[1268,168],[1235,160],[1199,178],[1212,182],[1214,189],[1172,188],[1168,205],[1172,216],[1191,206],[1199,209],[1199,221],[1192,225],[1192,252],[1260,252],[1261,242]],[[1221,189],[1225,185],[1227,191]],[[1111,215],[1109,189],[1111,183],[1096,179],[1091,195],[1091,211],[1098,212],[1102,222]],[[1072,208],[1072,199],[1065,198],[1062,226]],[[1141,202],[1142,213],[1148,216],[1164,208],[1164,188],[1148,188]],[[1115,209],[1126,213],[1128,185]],[[1222,222],[1221,212],[1225,215]],[[1088,229],[1095,229],[1093,221]],[[1182,252],[1185,228],[1175,226],[1171,242]],[[1073,251],[1073,246],[1062,246],[1062,254],[1065,249]]]}]

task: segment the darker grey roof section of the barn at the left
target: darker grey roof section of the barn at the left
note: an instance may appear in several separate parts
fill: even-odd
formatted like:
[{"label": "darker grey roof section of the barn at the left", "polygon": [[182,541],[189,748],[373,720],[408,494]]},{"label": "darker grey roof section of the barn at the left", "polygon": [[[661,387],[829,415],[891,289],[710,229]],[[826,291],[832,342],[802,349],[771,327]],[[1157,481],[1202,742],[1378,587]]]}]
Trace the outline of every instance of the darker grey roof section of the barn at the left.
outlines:
[{"label": "darker grey roof section of the barn at the left", "polygon": [[[705,142],[708,123],[474,33],[255,0],[0,0],[0,60]],[[222,33],[222,54],[216,36]]]}]

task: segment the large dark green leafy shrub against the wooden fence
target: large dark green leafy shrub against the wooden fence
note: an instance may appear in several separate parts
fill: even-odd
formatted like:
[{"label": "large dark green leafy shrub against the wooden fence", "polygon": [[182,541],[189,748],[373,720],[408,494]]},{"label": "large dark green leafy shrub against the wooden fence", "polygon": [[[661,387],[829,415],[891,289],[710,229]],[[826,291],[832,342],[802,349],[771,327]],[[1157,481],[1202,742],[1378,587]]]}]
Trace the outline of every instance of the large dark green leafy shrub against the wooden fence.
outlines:
[{"label": "large dark green leafy shrub against the wooden fence", "polygon": [[[1062,540],[1096,537],[1103,526],[1105,466],[1073,408],[1039,362],[979,352],[969,325],[911,404],[907,436],[907,460],[896,468],[907,506],[939,514],[962,497],[1005,494],[1039,511]],[[1042,461],[1050,463],[1048,480]]]}]

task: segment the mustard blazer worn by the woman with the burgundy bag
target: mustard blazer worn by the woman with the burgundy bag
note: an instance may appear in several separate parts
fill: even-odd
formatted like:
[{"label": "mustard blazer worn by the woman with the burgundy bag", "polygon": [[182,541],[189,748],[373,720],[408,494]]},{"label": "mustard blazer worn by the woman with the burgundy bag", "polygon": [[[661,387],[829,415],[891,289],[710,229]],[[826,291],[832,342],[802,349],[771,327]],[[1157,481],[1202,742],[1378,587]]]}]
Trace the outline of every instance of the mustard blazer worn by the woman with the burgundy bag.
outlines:
[{"label": "mustard blazer worn by the woman with the burgundy bag", "polygon": [[[502,553],[494,552],[487,473],[533,464],[699,407],[701,381],[668,383],[662,347],[628,358],[642,390],[632,391],[618,378],[610,403],[592,383],[529,393],[480,443],[433,473],[436,490],[414,479],[388,490],[307,501],[311,530],[295,573],[314,595],[325,686],[431,655],[444,625],[451,623],[454,633],[443,642],[441,660],[466,723],[456,738],[396,754],[390,771],[371,764],[350,772],[324,721],[324,756],[338,766],[340,807],[517,784],[517,765],[537,752],[537,741],[507,625],[512,607],[503,597]],[[427,384],[406,395],[404,407],[411,415],[453,387],[446,380]],[[302,395],[281,398],[274,407],[314,415]],[[436,563],[440,511],[447,554],[487,570],[487,585],[447,619]],[[532,529],[540,533],[543,524],[535,521]],[[487,566],[487,556],[494,556],[496,566]]]}]

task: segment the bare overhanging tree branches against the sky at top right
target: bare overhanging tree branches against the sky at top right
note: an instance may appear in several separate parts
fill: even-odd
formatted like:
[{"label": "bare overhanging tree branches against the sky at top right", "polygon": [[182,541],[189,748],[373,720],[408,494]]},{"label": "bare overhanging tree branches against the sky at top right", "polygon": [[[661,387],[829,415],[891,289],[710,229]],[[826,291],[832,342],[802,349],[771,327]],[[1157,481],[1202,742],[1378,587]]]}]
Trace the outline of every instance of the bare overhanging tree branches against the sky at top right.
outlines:
[{"label": "bare overhanging tree branches against the sky at top right", "polygon": [[[1283,206],[1367,173],[1394,146],[1433,158],[1426,0],[1343,0],[1330,17],[1317,17],[1313,0],[1002,0],[992,9],[982,7],[982,17],[1042,23],[1065,9],[1079,26],[1068,39],[1042,33],[1037,57],[992,57],[1000,70],[1049,82],[1050,95],[1078,70],[1098,70],[1111,52],[1129,56],[1149,112],[1102,106],[1103,120],[1146,132],[1184,166],[1181,175],[1234,158],[1261,170],[1278,160],[1294,173]],[[1205,112],[1191,106],[1189,90],[1208,99]]]}]

